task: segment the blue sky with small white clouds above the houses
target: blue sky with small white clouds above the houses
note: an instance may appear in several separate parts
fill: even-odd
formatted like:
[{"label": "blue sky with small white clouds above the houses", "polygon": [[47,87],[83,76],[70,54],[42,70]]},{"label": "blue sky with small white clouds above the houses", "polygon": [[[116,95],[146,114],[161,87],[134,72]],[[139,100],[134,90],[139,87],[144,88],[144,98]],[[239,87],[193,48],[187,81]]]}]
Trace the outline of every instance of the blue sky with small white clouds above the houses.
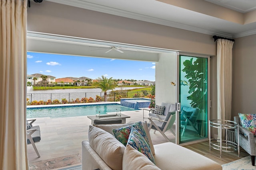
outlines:
[{"label": "blue sky with small white clouds above the houses", "polygon": [[64,77],[88,77],[96,79],[106,76],[113,79],[134,79],[155,81],[156,63],[79,57],[48,53],[27,53],[27,74],[40,73]]}]

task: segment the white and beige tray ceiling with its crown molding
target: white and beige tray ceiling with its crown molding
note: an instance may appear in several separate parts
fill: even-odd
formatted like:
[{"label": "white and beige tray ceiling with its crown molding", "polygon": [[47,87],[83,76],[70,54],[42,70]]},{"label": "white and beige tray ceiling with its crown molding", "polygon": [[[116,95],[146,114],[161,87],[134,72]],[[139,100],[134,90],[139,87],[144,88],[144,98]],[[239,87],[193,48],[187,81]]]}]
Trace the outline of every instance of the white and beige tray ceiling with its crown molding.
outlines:
[{"label": "white and beige tray ceiling with its crown molding", "polygon": [[229,38],[256,34],[256,0],[47,0]]}]

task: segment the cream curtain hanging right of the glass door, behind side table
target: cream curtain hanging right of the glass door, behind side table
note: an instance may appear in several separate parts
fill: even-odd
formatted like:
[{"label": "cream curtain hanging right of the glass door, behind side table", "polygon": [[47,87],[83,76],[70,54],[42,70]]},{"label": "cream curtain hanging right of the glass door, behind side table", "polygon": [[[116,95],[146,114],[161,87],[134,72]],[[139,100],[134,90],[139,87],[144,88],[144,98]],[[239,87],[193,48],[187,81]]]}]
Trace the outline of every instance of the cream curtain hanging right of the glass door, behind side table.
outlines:
[{"label": "cream curtain hanging right of the glass door, behind side table", "polygon": [[222,120],[231,120],[233,44],[230,40],[217,40],[217,111]]}]

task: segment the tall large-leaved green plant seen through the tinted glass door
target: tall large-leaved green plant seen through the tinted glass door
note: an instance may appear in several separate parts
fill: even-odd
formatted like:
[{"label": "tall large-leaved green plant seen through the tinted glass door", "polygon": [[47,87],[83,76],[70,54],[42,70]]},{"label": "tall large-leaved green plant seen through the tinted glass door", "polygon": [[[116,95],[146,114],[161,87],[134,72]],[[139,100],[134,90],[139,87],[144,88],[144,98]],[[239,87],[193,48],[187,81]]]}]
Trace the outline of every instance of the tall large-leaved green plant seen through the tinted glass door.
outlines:
[{"label": "tall large-leaved green plant seen through the tinted glass door", "polygon": [[207,98],[207,75],[205,74],[205,60],[204,58],[197,58],[193,63],[193,58],[183,62],[185,68],[182,70],[186,72],[185,78],[190,84],[187,97],[191,100],[190,104],[194,108],[201,110],[205,109],[205,100]]}]

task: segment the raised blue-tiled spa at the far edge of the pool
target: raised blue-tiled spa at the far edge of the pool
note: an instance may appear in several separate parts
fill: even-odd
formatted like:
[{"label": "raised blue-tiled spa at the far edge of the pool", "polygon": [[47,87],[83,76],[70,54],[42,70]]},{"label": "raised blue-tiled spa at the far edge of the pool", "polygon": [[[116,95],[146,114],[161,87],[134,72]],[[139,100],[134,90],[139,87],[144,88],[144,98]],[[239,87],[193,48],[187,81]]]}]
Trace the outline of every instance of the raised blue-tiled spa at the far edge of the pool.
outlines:
[{"label": "raised blue-tiled spa at the far edge of the pool", "polygon": [[121,106],[130,107],[134,109],[145,108],[150,105],[148,98],[125,98],[121,99]]}]

